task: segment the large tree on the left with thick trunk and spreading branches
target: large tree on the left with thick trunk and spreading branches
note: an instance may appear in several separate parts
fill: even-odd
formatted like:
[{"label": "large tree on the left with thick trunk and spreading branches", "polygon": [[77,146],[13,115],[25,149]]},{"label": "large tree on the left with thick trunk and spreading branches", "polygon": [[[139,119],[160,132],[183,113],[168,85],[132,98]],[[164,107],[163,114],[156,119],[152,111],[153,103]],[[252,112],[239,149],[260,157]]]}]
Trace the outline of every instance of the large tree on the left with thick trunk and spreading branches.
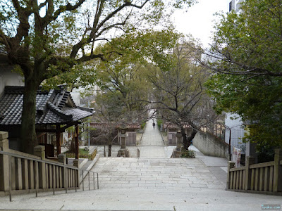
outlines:
[{"label": "large tree on the left with thick trunk and spreading branches", "polygon": [[193,0],[1,1],[0,43],[25,77],[23,151],[32,153],[36,140],[35,99],[45,79],[72,72],[75,65],[88,60],[104,60],[110,52],[97,53],[97,42],[160,23],[170,25],[168,8],[192,3]]}]

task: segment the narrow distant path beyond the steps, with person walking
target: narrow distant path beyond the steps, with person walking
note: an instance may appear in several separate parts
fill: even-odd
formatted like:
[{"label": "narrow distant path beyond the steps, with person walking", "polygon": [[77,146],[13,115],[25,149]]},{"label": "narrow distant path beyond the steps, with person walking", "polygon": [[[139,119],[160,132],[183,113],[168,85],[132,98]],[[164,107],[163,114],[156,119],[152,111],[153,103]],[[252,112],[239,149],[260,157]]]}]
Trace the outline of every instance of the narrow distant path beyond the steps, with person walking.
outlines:
[{"label": "narrow distant path beyond the steps, with person walking", "polygon": [[145,132],[141,139],[140,158],[166,158],[164,152],[164,141],[161,138],[159,129],[156,126],[153,128],[153,120],[147,121]]}]

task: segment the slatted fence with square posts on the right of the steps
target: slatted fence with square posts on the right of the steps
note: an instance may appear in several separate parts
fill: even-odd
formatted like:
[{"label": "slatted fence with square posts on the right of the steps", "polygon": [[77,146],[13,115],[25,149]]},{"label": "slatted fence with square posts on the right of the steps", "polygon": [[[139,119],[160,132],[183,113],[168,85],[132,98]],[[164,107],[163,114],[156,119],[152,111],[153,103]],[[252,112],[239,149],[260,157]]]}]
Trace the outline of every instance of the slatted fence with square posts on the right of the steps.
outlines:
[{"label": "slatted fence with square posts on the right of the steps", "polygon": [[276,149],[274,161],[254,162],[255,158],[247,157],[245,167],[237,168],[229,162],[226,189],[282,196],[282,150]]}]

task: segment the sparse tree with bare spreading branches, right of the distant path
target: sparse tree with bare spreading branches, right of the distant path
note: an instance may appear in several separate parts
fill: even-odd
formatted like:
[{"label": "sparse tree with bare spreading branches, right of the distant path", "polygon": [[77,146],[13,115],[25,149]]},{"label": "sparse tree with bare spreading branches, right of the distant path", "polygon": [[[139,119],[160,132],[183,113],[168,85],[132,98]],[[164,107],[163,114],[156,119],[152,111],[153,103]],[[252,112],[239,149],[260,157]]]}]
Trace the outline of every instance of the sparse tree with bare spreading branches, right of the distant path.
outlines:
[{"label": "sparse tree with bare spreading branches, right of the distant path", "polygon": [[[159,56],[157,68],[153,66],[148,75],[154,87],[150,103],[158,110],[161,119],[181,128],[185,150],[199,129],[217,118],[212,109],[213,102],[203,87],[208,74],[197,63],[201,56],[199,52],[200,46],[195,40],[180,39],[171,53]],[[184,129],[187,124],[192,127],[188,136]]]}]

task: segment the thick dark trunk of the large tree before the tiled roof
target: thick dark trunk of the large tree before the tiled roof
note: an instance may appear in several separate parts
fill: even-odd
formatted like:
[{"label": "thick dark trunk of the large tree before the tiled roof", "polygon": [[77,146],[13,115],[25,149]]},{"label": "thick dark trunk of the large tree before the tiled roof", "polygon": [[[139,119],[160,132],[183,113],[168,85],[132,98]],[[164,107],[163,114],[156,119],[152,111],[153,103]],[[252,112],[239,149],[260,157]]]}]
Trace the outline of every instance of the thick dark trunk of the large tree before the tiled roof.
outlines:
[{"label": "thick dark trunk of the large tree before the tiled roof", "polygon": [[23,113],[21,122],[21,148],[23,152],[33,154],[33,148],[37,141],[35,132],[36,95],[39,82],[35,77],[25,77],[25,89],[23,93]]}]

